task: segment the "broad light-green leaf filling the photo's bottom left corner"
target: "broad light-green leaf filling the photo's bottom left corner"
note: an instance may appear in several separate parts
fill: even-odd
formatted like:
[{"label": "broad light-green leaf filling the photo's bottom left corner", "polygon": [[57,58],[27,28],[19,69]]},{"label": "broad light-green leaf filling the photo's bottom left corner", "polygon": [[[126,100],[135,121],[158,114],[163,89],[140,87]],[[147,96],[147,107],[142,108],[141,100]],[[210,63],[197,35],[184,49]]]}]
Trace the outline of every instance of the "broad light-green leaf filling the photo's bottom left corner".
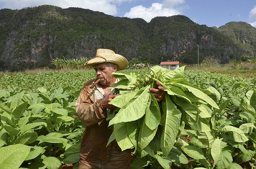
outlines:
[{"label": "broad light-green leaf filling the photo's bottom left corner", "polygon": [[16,144],[0,148],[0,168],[18,169],[30,151],[30,146]]}]

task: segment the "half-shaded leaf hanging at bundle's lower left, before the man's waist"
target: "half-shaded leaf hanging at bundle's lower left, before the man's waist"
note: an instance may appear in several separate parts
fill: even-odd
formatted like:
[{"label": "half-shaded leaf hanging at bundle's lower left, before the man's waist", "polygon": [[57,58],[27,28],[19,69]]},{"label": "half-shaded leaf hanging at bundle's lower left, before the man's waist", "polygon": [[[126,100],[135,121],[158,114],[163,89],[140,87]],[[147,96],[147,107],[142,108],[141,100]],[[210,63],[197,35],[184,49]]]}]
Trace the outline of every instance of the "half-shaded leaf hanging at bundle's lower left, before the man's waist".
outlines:
[{"label": "half-shaded leaf hanging at bundle's lower left, before the man's waist", "polygon": [[122,151],[134,147],[128,137],[127,123],[114,124],[114,136]]}]

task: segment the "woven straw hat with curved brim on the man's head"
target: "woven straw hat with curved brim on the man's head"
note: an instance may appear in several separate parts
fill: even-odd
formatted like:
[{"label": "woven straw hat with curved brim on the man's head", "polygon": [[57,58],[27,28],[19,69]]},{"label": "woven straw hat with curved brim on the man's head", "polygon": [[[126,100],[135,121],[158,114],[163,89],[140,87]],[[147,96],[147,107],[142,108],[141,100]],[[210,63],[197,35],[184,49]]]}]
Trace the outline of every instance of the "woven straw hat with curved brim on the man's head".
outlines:
[{"label": "woven straw hat with curved brim on the man's head", "polygon": [[117,70],[123,70],[128,66],[128,61],[120,54],[114,53],[110,49],[97,49],[96,56],[86,62],[85,66],[95,66],[97,64],[112,63],[117,65]]}]

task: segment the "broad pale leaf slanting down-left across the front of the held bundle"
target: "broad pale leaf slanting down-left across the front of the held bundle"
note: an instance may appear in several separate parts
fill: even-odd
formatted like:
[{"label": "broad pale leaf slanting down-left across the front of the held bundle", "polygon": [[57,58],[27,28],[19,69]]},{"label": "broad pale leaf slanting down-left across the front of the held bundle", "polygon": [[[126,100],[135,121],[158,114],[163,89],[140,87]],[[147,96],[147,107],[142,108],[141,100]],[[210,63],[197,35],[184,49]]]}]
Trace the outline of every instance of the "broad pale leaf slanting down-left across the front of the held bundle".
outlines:
[{"label": "broad pale leaf slanting down-left across the front of the held bundle", "polygon": [[140,89],[137,95],[122,107],[113,119],[109,121],[109,126],[121,122],[131,122],[140,119],[146,110],[150,91],[150,86]]}]

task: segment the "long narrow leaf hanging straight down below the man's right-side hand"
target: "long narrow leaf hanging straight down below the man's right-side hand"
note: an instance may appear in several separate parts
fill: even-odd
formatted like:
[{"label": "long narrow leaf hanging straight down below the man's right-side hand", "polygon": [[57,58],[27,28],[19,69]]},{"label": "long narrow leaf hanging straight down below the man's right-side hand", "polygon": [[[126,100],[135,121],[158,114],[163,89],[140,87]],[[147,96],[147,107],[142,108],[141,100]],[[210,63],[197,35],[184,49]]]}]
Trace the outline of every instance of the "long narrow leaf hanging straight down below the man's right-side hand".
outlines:
[{"label": "long narrow leaf hanging straight down below the man's right-side hand", "polygon": [[163,131],[161,135],[161,150],[166,156],[172,150],[179,132],[181,120],[181,112],[177,109],[176,105],[170,100],[169,95],[165,95],[163,102],[163,116],[161,124]]}]

